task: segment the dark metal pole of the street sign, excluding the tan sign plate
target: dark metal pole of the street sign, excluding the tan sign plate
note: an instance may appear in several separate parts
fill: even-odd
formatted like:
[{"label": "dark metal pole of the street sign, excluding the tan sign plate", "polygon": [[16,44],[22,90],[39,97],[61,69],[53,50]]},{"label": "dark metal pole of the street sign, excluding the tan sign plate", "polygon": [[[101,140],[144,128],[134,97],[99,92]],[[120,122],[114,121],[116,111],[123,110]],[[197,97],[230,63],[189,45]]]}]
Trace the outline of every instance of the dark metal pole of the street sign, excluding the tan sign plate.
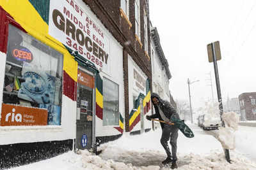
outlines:
[{"label": "dark metal pole of the street sign, excluding the tan sign plate", "polygon": [[[216,53],[215,53],[215,46],[214,43],[211,43],[211,48],[212,48],[212,57],[213,57],[213,66],[214,66],[214,73],[215,73],[215,80],[216,80],[216,88],[217,88],[217,94],[218,94],[218,101],[219,101],[219,108],[220,108],[220,119],[221,119],[221,126],[225,127],[225,123],[222,119],[223,115],[223,105],[222,105],[222,100],[221,100],[221,91],[220,91],[220,79],[219,79],[219,73],[218,73],[218,65],[216,61]],[[229,150],[225,149],[225,157],[226,160],[230,162],[230,155],[229,155]]]}]

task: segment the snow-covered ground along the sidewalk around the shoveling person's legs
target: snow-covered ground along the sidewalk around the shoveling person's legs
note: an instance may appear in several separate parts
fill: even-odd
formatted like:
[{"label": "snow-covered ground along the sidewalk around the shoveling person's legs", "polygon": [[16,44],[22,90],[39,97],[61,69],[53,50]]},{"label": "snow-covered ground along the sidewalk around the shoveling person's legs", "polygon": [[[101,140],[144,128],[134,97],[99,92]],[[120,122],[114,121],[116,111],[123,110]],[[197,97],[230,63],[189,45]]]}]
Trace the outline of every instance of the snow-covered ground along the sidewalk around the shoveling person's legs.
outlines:
[{"label": "snow-covered ground along the sidewalk around the shoveling person's legs", "polygon": [[[178,169],[256,169],[255,127],[239,126],[236,131],[237,148],[230,150],[232,164],[229,164],[216,138],[194,124],[188,125],[193,129],[195,137],[186,138],[179,132]],[[68,152],[52,159],[15,167],[13,170],[170,169],[161,165],[166,153],[160,144],[160,137],[161,129],[136,136],[124,134],[116,141],[101,145],[100,155],[94,155],[86,150],[80,155]]]}]

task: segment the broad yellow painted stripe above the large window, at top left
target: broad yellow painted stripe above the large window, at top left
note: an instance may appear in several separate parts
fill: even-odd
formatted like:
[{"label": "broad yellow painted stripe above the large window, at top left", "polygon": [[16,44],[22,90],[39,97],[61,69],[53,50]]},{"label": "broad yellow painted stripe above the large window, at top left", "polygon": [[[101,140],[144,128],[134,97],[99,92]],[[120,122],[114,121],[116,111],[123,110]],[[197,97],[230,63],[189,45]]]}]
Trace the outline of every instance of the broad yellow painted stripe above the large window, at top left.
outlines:
[{"label": "broad yellow painted stripe above the large window, at top left", "polygon": [[28,0],[1,0],[0,4],[28,34],[63,53],[63,70],[77,81],[77,62],[60,41],[48,34],[49,27]]}]

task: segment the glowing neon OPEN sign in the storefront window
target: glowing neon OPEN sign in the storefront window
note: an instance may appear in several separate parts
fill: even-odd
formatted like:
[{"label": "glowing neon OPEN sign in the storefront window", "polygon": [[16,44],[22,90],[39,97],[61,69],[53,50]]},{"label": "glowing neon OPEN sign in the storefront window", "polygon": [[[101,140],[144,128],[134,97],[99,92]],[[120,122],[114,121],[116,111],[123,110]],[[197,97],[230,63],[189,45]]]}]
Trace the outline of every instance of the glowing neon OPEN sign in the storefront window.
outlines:
[{"label": "glowing neon OPEN sign in the storefront window", "polygon": [[12,56],[20,61],[31,62],[33,60],[33,55],[28,48],[14,48]]}]

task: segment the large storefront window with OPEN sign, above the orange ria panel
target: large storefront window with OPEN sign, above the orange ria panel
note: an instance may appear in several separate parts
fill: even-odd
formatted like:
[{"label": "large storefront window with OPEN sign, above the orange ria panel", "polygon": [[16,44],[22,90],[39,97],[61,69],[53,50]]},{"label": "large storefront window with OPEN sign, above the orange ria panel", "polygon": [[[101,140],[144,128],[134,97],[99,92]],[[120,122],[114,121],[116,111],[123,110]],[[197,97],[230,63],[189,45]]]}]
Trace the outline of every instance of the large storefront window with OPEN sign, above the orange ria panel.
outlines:
[{"label": "large storefront window with OPEN sign, above the orange ria panel", "polygon": [[47,124],[60,125],[63,55],[13,25],[6,55],[3,103],[47,110]]}]

